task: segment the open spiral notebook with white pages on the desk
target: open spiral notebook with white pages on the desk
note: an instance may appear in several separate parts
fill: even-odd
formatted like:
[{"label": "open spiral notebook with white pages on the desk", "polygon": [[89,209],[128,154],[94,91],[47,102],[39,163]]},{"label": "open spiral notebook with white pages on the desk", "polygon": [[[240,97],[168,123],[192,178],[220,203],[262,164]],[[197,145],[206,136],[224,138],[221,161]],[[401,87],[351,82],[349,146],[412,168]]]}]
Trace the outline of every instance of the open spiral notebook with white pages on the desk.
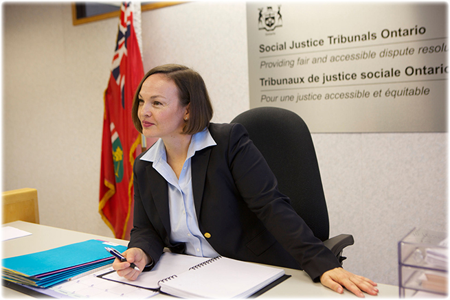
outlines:
[{"label": "open spiral notebook with white pages on the desk", "polygon": [[227,257],[208,259],[164,253],[155,268],[139,275],[136,281],[119,277],[115,272],[99,277],[176,297],[224,299],[247,298],[283,275],[284,270],[280,268]]}]

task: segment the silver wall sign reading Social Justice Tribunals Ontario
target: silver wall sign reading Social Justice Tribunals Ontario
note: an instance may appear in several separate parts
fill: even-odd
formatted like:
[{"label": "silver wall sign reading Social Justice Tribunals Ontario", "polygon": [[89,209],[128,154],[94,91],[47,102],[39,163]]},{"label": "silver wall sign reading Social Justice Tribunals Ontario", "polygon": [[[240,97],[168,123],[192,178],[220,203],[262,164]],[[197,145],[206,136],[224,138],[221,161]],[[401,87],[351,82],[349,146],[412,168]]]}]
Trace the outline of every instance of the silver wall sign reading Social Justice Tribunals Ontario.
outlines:
[{"label": "silver wall sign reading Social Justice Tribunals Ontario", "polygon": [[250,107],[311,132],[446,132],[447,3],[247,3]]}]

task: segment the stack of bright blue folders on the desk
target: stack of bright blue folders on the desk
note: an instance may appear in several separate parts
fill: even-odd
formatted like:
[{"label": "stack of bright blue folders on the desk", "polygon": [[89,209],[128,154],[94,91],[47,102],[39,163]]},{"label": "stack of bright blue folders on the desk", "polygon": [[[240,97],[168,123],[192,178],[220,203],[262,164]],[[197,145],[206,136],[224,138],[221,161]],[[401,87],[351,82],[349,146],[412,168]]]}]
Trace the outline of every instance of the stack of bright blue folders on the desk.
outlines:
[{"label": "stack of bright blue folders on the desk", "polygon": [[105,246],[123,252],[126,246],[87,240],[47,251],[2,259],[2,277],[14,283],[47,288],[77,275],[108,266],[114,257]]}]

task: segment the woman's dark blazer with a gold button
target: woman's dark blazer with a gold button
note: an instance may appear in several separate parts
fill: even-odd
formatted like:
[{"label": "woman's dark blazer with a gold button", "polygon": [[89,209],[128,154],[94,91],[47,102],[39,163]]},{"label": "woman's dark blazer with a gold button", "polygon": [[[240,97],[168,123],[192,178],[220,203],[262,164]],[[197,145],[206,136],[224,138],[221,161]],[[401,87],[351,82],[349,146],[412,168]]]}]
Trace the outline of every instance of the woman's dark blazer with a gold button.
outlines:
[{"label": "woman's dark blazer with a gold button", "polygon": [[[200,231],[214,250],[234,259],[304,269],[315,281],[339,267],[289,198],[278,192],[275,176],[244,126],[210,124],[209,130],[217,145],[192,157],[192,190]],[[141,156],[133,167],[135,208],[128,248],[138,247],[158,262],[165,246],[182,253],[184,244],[169,240],[168,183]]]}]

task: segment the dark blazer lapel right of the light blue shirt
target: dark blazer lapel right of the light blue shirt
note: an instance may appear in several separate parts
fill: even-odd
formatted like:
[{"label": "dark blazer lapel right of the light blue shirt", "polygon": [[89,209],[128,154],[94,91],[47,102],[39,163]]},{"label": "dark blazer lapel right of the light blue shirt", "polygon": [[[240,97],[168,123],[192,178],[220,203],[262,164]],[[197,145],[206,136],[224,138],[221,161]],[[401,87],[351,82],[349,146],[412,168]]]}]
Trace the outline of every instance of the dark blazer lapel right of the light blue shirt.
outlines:
[{"label": "dark blazer lapel right of the light blue shirt", "polygon": [[200,218],[201,202],[203,200],[203,190],[205,189],[206,170],[210,161],[212,147],[207,147],[192,157],[192,195],[194,196],[194,205],[197,220]]}]

